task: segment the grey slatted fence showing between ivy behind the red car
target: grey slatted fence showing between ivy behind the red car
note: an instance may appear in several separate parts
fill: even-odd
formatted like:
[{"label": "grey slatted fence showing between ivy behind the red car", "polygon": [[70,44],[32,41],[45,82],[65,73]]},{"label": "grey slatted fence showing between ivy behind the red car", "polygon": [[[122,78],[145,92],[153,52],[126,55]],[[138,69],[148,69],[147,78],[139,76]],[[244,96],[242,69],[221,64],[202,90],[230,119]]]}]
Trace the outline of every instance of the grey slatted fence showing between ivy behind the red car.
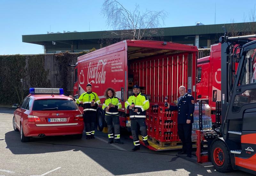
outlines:
[{"label": "grey slatted fence showing between ivy behind the red car", "polygon": [[[59,63],[55,57],[55,54],[40,54],[44,57],[44,69],[48,71],[47,80],[50,80],[51,82],[51,88],[59,88],[60,85],[60,72],[59,72]],[[28,70],[28,62],[29,62],[29,56],[31,55],[25,55],[26,56],[26,70]],[[71,53],[71,65],[75,65],[77,62],[77,53],[72,54]],[[68,76],[68,88],[67,91],[73,91],[74,86],[74,67],[68,67],[68,72],[70,76]],[[40,74],[40,73],[38,73]],[[29,77],[27,74],[27,77],[22,80],[22,87],[24,90],[28,90],[30,88],[29,84]]]}]

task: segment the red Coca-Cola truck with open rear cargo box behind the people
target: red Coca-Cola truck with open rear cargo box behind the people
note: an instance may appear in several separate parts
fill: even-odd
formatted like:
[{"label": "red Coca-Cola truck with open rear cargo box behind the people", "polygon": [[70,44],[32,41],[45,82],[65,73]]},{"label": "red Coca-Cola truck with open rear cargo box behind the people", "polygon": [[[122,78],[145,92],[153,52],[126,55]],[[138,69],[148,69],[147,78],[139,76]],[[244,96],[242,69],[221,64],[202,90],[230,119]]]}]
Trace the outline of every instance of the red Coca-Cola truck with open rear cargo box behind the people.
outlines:
[{"label": "red Coca-Cola truck with open rear cargo box behind the people", "polygon": [[150,102],[175,102],[178,88],[184,85],[195,97],[196,46],[147,40],[124,40],[78,57],[75,66],[74,95],[78,98],[92,84],[92,91],[100,98],[97,109],[99,130],[106,126],[104,92],[108,87],[116,90],[122,109],[119,110],[121,127],[129,127],[129,112],[124,102],[132,95],[132,86],[138,84],[141,93]]}]

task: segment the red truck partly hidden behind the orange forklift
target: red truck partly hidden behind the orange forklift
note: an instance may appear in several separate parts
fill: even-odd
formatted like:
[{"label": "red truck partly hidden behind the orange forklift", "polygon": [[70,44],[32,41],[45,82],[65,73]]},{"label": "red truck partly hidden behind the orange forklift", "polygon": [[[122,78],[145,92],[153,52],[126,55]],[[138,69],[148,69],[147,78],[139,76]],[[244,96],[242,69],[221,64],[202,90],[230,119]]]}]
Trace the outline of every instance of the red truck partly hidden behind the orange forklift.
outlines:
[{"label": "red truck partly hidden behind the orange forklift", "polygon": [[[240,52],[240,48],[236,53]],[[216,101],[221,101],[221,44],[211,45],[210,56],[197,60],[196,72],[196,101],[211,107],[212,123],[216,122]],[[236,72],[238,63],[233,71]]]}]

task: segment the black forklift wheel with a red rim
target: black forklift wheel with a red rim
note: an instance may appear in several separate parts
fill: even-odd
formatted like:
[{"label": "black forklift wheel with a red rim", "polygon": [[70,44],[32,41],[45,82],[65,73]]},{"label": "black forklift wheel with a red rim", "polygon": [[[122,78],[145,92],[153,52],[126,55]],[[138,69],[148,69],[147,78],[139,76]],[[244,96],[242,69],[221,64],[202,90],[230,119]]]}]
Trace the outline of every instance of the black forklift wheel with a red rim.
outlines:
[{"label": "black forklift wheel with a red rim", "polygon": [[222,141],[213,142],[210,148],[210,158],[218,172],[233,171],[228,147]]}]

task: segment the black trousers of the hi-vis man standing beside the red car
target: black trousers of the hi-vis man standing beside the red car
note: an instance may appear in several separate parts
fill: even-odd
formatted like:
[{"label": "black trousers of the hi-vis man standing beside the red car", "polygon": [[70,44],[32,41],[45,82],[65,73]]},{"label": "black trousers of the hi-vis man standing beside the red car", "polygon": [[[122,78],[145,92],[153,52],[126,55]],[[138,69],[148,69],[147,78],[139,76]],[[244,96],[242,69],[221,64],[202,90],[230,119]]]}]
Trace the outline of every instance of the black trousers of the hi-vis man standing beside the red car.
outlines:
[{"label": "black trousers of the hi-vis man standing beside the red car", "polygon": [[84,112],[84,123],[85,123],[86,137],[94,136],[95,120],[96,120],[96,111],[95,112]]}]

